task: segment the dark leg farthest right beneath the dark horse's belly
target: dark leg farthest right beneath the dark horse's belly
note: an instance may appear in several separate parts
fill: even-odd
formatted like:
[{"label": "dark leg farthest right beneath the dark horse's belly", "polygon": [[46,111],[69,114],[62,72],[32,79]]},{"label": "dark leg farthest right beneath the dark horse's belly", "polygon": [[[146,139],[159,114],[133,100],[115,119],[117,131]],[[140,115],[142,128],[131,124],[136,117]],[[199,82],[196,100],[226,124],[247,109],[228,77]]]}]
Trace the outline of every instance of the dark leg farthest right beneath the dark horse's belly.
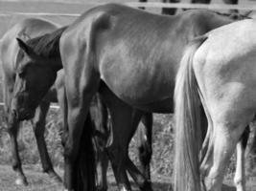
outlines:
[{"label": "dark leg farthest right beneath the dark horse's belly", "polygon": [[141,170],[147,180],[151,180],[151,134],[152,134],[152,114],[145,113],[142,116],[143,126],[138,127],[138,151],[141,162]]}]

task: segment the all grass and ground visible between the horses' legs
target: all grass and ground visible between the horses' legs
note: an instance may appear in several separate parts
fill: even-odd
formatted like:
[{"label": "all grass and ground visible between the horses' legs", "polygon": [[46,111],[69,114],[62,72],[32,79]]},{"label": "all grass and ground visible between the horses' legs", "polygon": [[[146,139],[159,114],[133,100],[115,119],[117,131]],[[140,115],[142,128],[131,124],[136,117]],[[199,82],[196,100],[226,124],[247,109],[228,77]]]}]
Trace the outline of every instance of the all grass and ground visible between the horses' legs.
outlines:
[{"label": "all grass and ground visible between the horses' legs", "polygon": [[[1,110],[0,110],[1,112]],[[50,115],[47,117],[47,130],[45,138],[48,145],[48,150],[51,155],[52,161],[55,164],[55,168],[58,169],[58,174],[62,175],[62,147],[60,145],[60,138],[58,136],[59,123],[58,111],[50,111]],[[4,124],[2,124],[4,125]],[[155,191],[166,191],[170,187],[173,174],[173,157],[174,157],[174,135],[173,132],[173,120],[172,115],[154,115],[153,124],[153,156],[151,160],[151,174],[153,188]],[[53,190],[58,191],[61,189],[58,185],[55,185],[48,179],[47,175],[41,172],[40,160],[38,158],[37,148],[35,146],[35,138],[30,123],[25,122],[20,131],[19,152],[24,164],[24,172],[28,177],[30,185],[27,187],[19,187],[14,185],[15,174],[10,166],[10,154],[9,154],[9,138],[5,133],[5,129],[1,129],[0,137],[0,191],[40,191],[40,190]],[[137,148],[136,148],[136,136],[132,138],[129,146],[130,158],[138,162]],[[232,179],[234,177],[235,159],[231,159],[231,164],[228,168],[225,183],[226,191],[234,191],[232,186]],[[256,172],[256,171],[255,171]],[[248,191],[256,190],[256,174],[251,172],[248,174],[246,180],[248,185]],[[115,191],[115,181],[111,170],[108,172],[109,191]],[[134,186],[133,190],[137,187]],[[136,190],[137,191],[137,190]]]}]

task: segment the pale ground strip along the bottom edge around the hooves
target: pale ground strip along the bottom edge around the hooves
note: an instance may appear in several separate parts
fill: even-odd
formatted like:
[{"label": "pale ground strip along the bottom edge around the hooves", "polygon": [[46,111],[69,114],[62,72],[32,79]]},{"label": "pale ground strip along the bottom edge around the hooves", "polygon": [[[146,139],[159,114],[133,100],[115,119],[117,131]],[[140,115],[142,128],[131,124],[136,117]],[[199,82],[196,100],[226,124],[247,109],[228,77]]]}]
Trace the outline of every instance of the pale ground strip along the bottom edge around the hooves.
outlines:
[{"label": "pale ground strip along the bottom edge around the hooves", "polygon": [[[49,180],[46,174],[40,171],[38,165],[25,165],[24,172],[29,180],[29,186],[14,185],[15,176],[11,166],[0,165],[0,191],[60,191],[60,186],[54,184]],[[58,169],[58,174],[62,174],[62,170]],[[167,191],[171,186],[169,183],[170,177],[163,177],[160,175],[152,175],[152,186],[154,191]],[[108,191],[117,191],[113,175],[108,173],[109,189]],[[231,180],[226,180],[222,191],[235,191]],[[132,184],[133,191],[139,191],[134,184]],[[255,191],[256,179],[247,180],[247,191]]]}]

